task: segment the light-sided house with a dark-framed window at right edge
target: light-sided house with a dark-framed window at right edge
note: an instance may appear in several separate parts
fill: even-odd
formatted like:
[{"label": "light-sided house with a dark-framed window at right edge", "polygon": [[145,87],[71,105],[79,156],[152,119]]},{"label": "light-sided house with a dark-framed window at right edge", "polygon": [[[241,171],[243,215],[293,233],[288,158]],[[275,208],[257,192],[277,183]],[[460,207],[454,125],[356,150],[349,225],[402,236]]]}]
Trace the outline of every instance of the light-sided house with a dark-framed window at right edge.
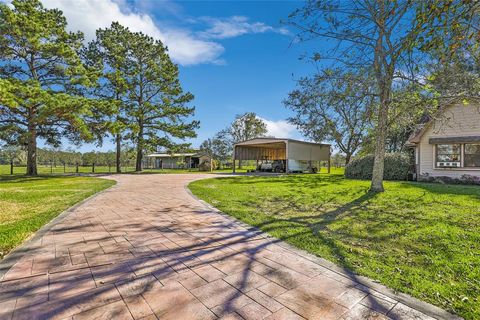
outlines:
[{"label": "light-sided house with a dark-framed window at right edge", "polygon": [[407,146],[415,151],[417,180],[480,177],[480,104],[452,104],[417,130]]}]

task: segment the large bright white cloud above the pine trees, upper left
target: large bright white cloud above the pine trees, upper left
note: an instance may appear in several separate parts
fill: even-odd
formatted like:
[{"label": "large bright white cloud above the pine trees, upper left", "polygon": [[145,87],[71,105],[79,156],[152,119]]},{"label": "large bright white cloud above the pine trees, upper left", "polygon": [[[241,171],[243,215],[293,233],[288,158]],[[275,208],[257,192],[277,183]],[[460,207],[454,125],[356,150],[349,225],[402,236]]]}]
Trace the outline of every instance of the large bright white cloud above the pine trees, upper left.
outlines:
[{"label": "large bright white cloud above the pine trees, upper left", "polygon": [[172,59],[182,65],[219,63],[219,57],[224,52],[221,44],[199,39],[189,30],[160,29],[150,15],[126,11],[126,6],[120,6],[113,0],[43,0],[43,4],[47,8],[62,10],[68,28],[82,31],[87,40],[95,37],[97,29],[107,28],[113,21],[118,21],[132,31],[142,31],[162,40],[168,46]]}]

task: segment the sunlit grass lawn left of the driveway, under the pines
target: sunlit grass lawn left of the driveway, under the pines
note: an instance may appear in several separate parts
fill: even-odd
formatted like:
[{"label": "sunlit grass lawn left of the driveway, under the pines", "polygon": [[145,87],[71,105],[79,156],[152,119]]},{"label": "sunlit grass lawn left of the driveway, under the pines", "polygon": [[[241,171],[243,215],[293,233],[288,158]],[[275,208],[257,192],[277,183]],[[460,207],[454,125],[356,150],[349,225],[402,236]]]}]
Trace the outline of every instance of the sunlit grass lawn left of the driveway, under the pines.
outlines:
[{"label": "sunlit grass lawn left of the driveway, under the pines", "polygon": [[63,210],[113,184],[90,177],[0,177],[0,259]]}]

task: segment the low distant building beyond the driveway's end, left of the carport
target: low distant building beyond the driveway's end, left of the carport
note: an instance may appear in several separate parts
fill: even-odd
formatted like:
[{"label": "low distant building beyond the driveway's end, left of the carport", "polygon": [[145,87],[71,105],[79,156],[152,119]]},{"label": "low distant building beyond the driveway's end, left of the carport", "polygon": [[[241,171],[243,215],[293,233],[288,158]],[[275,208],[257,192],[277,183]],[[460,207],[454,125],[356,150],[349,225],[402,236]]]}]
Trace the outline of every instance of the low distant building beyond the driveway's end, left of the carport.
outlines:
[{"label": "low distant building beyond the driveway's end, left of the carport", "polygon": [[210,161],[210,157],[201,152],[152,153],[147,155],[146,168],[151,169],[191,169]]}]

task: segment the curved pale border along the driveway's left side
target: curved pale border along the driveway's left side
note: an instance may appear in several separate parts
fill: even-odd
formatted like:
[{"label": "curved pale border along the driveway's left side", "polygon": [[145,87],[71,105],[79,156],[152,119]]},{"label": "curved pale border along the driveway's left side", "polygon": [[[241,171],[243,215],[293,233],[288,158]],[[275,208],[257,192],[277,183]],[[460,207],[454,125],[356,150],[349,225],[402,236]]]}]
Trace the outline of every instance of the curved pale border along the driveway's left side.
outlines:
[{"label": "curved pale border along the driveway's left side", "polygon": [[57,215],[55,218],[50,220],[47,224],[40,227],[40,229],[38,229],[35,233],[33,233],[33,235],[30,238],[28,238],[23,243],[18,245],[15,249],[10,251],[2,260],[0,260],[0,280],[3,279],[3,277],[8,272],[8,270],[10,270],[10,268],[15,263],[17,263],[18,260],[20,260],[29,250],[32,249],[33,243],[35,241],[41,239],[48,231],[50,231],[50,229],[54,225],[63,221],[72,211],[74,211],[76,208],[80,207],[81,205],[83,205],[87,201],[90,201],[91,199],[93,199],[93,198],[107,192],[108,190],[112,189],[113,187],[115,187],[117,185],[117,181],[113,180],[113,179],[112,179],[112,181],[115,181],[115,184],[113,184],[110,187],[108,187],[106,189],[103,189],[99,192],[96,192],[96,193],[92,194],[91,196],[75,203],[73,206],[65,209],[59,215]]}]

